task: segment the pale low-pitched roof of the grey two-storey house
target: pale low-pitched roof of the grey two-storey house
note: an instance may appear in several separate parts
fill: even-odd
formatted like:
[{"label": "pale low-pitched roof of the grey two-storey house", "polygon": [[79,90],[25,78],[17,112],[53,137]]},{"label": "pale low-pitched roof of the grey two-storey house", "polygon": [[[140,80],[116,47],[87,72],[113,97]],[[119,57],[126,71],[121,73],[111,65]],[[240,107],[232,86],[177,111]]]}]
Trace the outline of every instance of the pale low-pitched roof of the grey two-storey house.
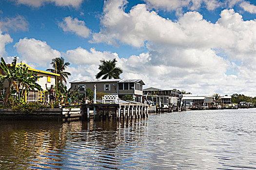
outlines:
[{"label": "pale low-pitched roof of the grey two-storey house", "polygon": [[117,83],[140,83],[145,85],[141,79],[95,79],[95,80],[75,80],[69,83],[99,83],[99,82],[117,82]]}]

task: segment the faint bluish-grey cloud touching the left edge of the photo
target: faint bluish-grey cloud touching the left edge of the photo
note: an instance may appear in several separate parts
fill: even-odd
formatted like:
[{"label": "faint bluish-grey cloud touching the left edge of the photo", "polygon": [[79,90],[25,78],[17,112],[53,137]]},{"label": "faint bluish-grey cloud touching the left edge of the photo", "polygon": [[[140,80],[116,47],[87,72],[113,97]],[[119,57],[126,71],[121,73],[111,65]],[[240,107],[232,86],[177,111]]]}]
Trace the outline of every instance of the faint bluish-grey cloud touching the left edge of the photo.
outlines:
[{"label": "faint bluish-grey cloud touching the left edge of the photo", "polygon": [[0,20],[0,29],[2,31],[8,31],[12,29],[14,31],[27,31],[28,30],[28,21],[22,17],[12,17],[12,18],[4,18]]}]

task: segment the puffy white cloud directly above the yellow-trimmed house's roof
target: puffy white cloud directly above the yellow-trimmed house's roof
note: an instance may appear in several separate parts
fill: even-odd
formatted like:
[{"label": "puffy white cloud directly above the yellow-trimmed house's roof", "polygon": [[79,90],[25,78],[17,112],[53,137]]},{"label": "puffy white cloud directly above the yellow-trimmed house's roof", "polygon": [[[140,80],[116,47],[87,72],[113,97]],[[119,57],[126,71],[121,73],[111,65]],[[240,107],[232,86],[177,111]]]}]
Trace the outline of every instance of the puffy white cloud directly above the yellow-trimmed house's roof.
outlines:
[{"label": "puffy white cloud directly above the yellow-trimmed house's roof", "polygon": [[52,49],[45,41],[23,38],[14,47],[26,63],[47,66],[53,58],[60,57],[60,52]]}]

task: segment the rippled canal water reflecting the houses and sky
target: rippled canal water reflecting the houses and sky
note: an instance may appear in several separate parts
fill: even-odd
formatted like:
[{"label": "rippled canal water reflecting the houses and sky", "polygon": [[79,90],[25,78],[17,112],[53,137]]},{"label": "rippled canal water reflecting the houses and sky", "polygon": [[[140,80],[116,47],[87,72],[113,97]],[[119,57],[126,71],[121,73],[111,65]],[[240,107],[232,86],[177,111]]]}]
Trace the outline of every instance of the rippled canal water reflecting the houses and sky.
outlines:
[{"label": "rippled canal water reflecting the houses and sky", "polygon": [[256,169],[256,109],[120,122],[0,121],[0,169]]}]

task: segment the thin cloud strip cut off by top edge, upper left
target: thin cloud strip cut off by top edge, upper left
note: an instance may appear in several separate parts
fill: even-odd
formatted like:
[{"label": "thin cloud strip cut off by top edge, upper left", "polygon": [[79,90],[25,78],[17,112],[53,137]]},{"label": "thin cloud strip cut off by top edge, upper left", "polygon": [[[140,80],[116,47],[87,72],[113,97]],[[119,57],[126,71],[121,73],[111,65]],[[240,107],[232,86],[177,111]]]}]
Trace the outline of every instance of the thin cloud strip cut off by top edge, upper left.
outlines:
[{"label": "thin cloud strip cut off by top edge, upper left", "polygon": [[32,7],[40,7],[45,3],[55,3],[57,6],[71,6],[78,8],[83,0],[14,0],[18,4],[24,4]]}]

